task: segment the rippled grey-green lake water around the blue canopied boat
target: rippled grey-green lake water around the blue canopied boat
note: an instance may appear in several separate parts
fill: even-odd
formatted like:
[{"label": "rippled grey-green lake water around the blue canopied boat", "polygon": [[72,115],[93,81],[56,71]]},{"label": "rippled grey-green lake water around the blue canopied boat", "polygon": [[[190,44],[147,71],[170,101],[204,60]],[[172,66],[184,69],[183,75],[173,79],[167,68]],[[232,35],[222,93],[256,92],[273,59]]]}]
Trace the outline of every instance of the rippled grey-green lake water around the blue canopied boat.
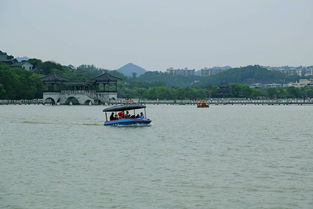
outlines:
[{"label": "rippled grey-green lake water around the blue canopied boat", "polygon": [[0,208],[313,208],[313,106],[0,106]]}]

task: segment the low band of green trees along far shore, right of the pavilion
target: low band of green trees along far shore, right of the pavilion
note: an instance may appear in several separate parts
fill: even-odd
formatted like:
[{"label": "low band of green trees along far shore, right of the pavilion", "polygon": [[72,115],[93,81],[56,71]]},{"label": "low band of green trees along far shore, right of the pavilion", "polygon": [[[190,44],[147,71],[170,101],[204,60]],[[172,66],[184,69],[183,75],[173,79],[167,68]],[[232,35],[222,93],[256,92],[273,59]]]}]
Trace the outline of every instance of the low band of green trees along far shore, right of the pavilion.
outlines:
[{"label": "low band of green trees along far shore, right of the pavilion", "polygon": [[210,86],[206,88],[174,88],[155,86],[150,88],[120,88],[119,97],[141,99],[208,99],[208,98],[251,98],[251,99],[287,99],[313,98],[313,87],[251,88],[244,84]]}]

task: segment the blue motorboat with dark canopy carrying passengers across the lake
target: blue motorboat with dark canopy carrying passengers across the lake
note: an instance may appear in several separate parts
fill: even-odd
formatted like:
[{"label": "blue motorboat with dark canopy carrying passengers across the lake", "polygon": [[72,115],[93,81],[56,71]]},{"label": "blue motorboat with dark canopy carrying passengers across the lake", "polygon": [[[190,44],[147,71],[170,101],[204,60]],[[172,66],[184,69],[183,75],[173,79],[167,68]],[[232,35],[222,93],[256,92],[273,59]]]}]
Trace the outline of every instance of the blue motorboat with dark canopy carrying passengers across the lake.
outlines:
[{"label": "blue motorboat with dark canopy carrying passengers across the lake", "polygon": [[[143,109],[144,113],[141,112],[136,115],[135,110],[137,109]],[[131,110],[133,110],[133,115],[128,113]],[[103,112],[105,112],[105,126],[148,126],[151,123],[151,120],[146,117],[146,106],[142,104],[116,105],[105,108]],[[109,118],[107,116],[108,112],[111,112]]]}]

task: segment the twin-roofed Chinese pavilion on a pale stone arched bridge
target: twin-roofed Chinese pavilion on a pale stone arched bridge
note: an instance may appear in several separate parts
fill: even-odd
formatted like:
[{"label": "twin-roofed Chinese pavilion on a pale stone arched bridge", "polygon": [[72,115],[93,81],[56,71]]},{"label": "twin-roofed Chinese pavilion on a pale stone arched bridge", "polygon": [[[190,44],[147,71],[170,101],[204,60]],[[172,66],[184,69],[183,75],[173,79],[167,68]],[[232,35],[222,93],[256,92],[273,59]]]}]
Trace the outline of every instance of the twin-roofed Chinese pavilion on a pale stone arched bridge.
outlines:
[{"label": "twin-roofed Chinese pavilion on a pale stone arched bridge", "polygon": [[52,73],[40,78],[43,100],[51,104],[103,104],[117,99],[118,77],[103,73],[87,82],[73,82]]}]

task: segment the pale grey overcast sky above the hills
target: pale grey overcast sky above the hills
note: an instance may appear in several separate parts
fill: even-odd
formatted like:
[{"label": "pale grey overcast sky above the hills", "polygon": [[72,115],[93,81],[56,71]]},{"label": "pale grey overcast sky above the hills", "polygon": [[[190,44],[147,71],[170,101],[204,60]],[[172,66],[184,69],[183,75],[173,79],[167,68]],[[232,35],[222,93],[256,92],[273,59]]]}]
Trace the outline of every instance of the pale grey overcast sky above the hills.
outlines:
[{"label": "pale grey overcast sky above the hills", "polygon": [[313,0],[0,0],[0,26],[0,50],[65,65],[313,65]]}]

